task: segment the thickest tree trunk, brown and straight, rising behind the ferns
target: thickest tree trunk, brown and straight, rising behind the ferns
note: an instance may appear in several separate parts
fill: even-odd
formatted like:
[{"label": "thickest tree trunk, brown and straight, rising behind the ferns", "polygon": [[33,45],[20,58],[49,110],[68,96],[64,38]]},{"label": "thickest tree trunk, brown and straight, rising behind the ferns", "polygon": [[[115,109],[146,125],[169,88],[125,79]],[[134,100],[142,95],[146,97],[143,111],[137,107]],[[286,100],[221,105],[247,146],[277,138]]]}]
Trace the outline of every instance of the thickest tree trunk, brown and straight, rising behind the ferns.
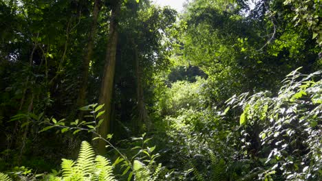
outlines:
[{"label": "thickest tree trunk, brown and straight, rising behind the ferns", "polygon": [[[120,12],[120,1],[114,2],[111,7],[111,21],[109,24],[109,42],[107,43],[107,54],[105,58],[105,69],[103,73],[102,84],[100,87],[100,98],[98,104],[105,104],[105,113],[100,119],[104,119],[98,129],[98,133],[103,138],[111,131],[111,98],[114,88],[114,74],[116,64],[116,48],[118,44],[118,14]],[[105,154],[105,141],[98,140],[98,153]]]}]

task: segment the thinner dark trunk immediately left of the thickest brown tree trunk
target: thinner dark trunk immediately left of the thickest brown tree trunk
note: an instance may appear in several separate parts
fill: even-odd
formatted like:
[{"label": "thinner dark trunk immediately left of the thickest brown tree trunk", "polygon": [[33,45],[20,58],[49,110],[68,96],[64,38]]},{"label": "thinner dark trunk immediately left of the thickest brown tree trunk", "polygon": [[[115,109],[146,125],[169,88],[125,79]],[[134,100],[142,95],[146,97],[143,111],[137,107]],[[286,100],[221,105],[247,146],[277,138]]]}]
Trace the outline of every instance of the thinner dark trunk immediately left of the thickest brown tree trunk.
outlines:
[{"label": "thinner dark trunk immediately left of the thickest brown tree trunk", "polygon": [[[86,92],[88,87],[88,77],[89,77],[89,62],[92,59],[93,47],[94,47],[94,39],[96,34],[97,27],[97,19],[98,14],[101,8],[101,1],[95,0],[94,2],[94,10],[93,10],[93,20],[91,31],[89,32],[88,43],[87,43],[87,51],[85,52],[83,65],[82,65],[82,77],[81,77],[81,88],[79,90],[78,99],[77,99],[77,108],[85,106]],[[75,114],[74,114],[75,115]],[[79,112],[78,119],[83,119],[82,112]]]}]

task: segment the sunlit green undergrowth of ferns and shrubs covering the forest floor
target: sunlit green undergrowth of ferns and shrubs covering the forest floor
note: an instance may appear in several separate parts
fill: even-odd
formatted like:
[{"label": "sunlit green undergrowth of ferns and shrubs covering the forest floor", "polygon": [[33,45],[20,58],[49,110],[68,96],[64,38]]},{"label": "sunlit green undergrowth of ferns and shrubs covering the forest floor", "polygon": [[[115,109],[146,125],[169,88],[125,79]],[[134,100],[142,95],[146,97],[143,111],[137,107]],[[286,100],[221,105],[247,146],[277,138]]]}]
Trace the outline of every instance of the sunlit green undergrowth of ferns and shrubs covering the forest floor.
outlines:
[{"label": "sunlit green undergrowth of ferns and shrubs covering the forest floor", "polygon": [[[161,108],[172,110],[157,125],[164,129],[155,130],[153,139],[142,134],[132,138],[133,143],[125,141],[127,149],[114,147],[122,153],[113,164],[103,156],[95,156],[92,146],[83,142],[76,162],[63,159],[61,171],[35,174],[21,167],[6,172],[8,175],[1,173],[0,177],[2,180],[10,180],[9,176],[14,180],[321,180],[321,72],[302,75],[298,70],[292,71],[276,96],[268,91],[244,93],[228,99],[227,107],[222,110],[202,106],[202,95],[196,95],[206,81],[198,81],[180,82],[169,88],[169,97],[173,98],[163,102],[165,107]],[[184,90],[186,96],[177,97],[175,93],[180,86],[192,87]],[[197,98],[190,99],[189,95]],[[100,114],[102,107],[87,106],[94,115]],[[78,122],[67,126],[54,119],[47,119],[47,123],[51,125],[43,131],[59,128],[61,132],[95,132],[99,126],[99,123],[89,126]],[[111,135],[106,141],[110,138]],[[149,141],[157,147],[148,147]],[[152,154],[155,151],[158,153]]]}]

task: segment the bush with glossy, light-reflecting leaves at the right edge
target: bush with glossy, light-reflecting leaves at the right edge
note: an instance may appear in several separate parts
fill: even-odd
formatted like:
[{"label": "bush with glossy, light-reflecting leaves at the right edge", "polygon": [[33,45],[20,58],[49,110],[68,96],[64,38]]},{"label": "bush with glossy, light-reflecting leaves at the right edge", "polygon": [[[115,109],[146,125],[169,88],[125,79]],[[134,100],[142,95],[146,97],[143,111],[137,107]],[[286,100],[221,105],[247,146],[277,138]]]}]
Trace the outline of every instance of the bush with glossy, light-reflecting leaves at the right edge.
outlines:
[{"label": "bush with glossy, light-reflecting leaves at the right edge", "polygon": [[321,71],[292,71],[276,97],[245,93],[229,99],[241,106],[241,147],[264,167],[261,178],[321,180]]}]

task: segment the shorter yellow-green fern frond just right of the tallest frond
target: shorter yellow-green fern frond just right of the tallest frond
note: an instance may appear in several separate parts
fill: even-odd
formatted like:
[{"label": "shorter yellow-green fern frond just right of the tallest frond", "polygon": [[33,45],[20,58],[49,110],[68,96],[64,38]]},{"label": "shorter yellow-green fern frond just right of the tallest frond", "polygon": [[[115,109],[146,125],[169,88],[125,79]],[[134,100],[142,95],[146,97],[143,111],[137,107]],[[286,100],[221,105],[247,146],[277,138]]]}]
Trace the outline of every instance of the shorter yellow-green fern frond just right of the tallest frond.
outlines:
[{"label": "shorter yellow-green fern frond just right of the tallest frond", "polygon": [[96,156],[95,161],[96,178],[98,178],[99,181],[116,181],[113,175],[113,167],[107,158],[103,156]]}]

